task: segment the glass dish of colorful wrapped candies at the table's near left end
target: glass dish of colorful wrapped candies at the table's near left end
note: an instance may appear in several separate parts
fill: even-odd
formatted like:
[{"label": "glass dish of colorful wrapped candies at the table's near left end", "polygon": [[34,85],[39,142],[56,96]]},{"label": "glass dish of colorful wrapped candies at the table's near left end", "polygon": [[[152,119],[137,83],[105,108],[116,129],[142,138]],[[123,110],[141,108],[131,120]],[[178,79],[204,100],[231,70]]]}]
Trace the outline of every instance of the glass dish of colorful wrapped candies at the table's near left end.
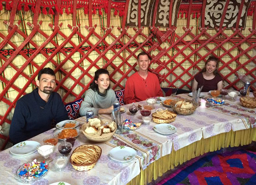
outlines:
[{"label": "glass dish of colorful wrapped candies at the table's near left end", "polygon": [[47,162],[38,162],[37,159],[35,159],[32,162],[21,165],[17,169],[16,175],[22,182],[33,182],[44,177],[48,169],[49,165]]}]

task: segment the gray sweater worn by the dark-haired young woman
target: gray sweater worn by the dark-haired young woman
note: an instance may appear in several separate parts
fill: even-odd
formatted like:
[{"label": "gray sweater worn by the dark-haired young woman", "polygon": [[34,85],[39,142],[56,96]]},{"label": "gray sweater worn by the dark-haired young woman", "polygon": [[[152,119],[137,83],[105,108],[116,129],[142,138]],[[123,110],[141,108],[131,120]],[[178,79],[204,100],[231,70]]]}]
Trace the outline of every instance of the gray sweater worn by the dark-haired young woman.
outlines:
[{"label": "gray sweater worn by the dark-haired young woman", "polygon": [[109,89],[105,97],[99,95],[97,91],[89,89],[86,91],[84,101],[81,103],[80,115],[85,116],[89,109],[93,110],[94,115],[98,115],[99,109],[109,108],[116,100],[116,94],[113,89]]}]

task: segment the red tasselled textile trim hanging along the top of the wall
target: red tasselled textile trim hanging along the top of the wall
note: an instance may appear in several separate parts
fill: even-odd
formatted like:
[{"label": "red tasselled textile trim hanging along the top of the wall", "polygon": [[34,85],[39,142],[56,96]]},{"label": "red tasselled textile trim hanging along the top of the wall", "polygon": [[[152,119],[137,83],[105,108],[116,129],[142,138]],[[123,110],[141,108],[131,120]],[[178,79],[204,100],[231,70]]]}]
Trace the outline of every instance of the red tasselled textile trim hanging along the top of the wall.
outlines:
[{"label": "red tasselled textile trim hanging along the top of the wall", "polygon": [[[0,0],[0,10],[3,10],[2,2],[5,2],[5,9],[11,10],[13,7],[13,1],[12,0]],[[60,14],[63,14],[63,11],[65,11],[67,14],[73,13],[73,0],[61,0],[61,7],[60,10],[56,6],[57,0],[42,0],[41,1],[41,7],[43,7],[42,12],[43,14],[54,14],[52,8],[55,8],[57,12],[60,12]],[[35,3],[36,0],[19,0],[18,8],[17,10],[22,10],[22,8],[25,11],[29,11],[30,8],[33,12],[35,12]],[[191,14],[193,15],[193,18],[199,18],[201,11],[202,11],[202,3],[203,0],[193,0],[193,4],[191,7]],[[254,11],[254,5],[256,3],[256,0],[252,0],[248,11],[247,16],[252,16]],[[76,4],[76,8],[84,8],[84,13],[88,14],[88,4],[89,0],[80,0]],[[102,9],[105,12],[108,12],[108,0],[93,0],[93,14],[96,14],[96,10],[99,10],[99,14],[102,14]],[[114,8],[115,12],[114,15],[123,16],[124,15],[124,8],[125,8],[125,0],[112,0],[111,8]],[[189,9],[189,0],[182,0],[179,11],[178,11],[178,18],[185,15],[187,17]]]}]

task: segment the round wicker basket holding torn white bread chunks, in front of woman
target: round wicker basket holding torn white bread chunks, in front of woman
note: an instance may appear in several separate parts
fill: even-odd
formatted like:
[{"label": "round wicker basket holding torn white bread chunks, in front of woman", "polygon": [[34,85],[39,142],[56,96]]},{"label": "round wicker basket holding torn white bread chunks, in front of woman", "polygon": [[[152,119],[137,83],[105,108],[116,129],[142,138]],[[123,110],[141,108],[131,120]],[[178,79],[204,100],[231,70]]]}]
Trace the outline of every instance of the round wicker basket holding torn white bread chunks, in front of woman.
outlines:
[{"label": "round wicker basket holding torn white bread chunks, in front of woman", "polygon": [[[101,125],[105,124],[106,122],[110,122],[110,121],[101,120]],[[116,123],[114,123],[115,130],[113,132],[102,133],[101,136],[98,136],[98,135],[85,133],[84,131],[85,131],[86,127],[90,127],[89,122],[82,125],[82,132],[90,141],[93,141],[94,143],[106,143],[106,142],[108,142],[112,138],[112,136],[114,135],[114,133],[116,132],[116,129],[117,129],[117,125],[116,125]]]}]

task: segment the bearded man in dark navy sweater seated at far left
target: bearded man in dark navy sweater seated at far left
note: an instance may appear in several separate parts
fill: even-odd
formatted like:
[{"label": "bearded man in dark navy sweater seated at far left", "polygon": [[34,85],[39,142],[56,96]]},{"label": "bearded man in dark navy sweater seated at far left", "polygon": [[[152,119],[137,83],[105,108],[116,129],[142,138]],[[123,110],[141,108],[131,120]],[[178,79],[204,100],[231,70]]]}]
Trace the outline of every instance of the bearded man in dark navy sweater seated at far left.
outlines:
[{"label": "bearded man in dark navy sweater seated at far left", "polygon": [[48,131],[53,121],[68,120],[60,95],[53,92],[55,79],[51,68],[41,69],[36,81],[38,88],[17,101],[9,133],[13,144]]}]

